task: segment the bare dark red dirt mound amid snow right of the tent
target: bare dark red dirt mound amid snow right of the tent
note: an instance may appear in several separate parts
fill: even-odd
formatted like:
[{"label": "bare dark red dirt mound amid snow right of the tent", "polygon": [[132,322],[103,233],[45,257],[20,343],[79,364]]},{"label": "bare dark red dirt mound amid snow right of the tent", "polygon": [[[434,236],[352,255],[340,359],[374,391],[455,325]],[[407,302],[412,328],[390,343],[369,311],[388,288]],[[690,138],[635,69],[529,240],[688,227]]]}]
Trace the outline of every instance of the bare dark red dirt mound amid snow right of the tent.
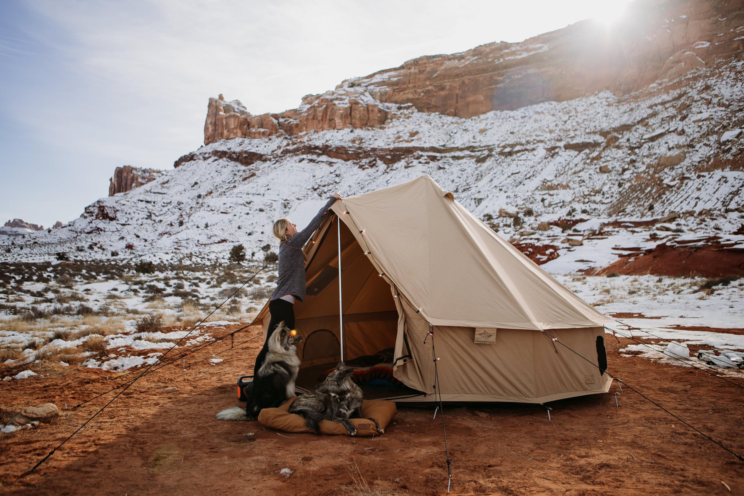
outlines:
[{"label": "bare dark red dirt mound amid snow right of the tent", "polygon": [[744,276],[744,250],[726,248],[719,242],[703,246],[656,245],[640,254],[632,253],[597,271],[612,274],[721,277]]}]

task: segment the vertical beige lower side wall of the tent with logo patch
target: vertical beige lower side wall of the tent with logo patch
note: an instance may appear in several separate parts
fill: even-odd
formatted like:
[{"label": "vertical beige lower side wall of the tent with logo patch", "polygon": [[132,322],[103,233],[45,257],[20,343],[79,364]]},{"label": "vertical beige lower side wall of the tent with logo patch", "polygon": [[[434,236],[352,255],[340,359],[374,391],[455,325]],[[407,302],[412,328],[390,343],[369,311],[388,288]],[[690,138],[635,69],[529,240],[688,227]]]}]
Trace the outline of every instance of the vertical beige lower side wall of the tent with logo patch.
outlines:
[{"label": "vertical beige lower side wall of the tent with logo patch", "polygon": [[[407,343],[411,358],[399,362],[394,375],[408,387],[431,394],[432,338],[423,343],[429,324],[405,302],[401,308],[405,323],[399,328],[399,344],[403,347],[396,347],[396,356],[405,353]],[[551,339],[540,331],[498,329],[496,344],[475,344],[474,327],[434,326],[433,332],[444,401],[544,403],[606,393],[611,384],[607,374],[565,347],[557,345],[556,353]],[[604,338],[602,327],[552,329],[551,335],[598,363],[596,340]]]}]

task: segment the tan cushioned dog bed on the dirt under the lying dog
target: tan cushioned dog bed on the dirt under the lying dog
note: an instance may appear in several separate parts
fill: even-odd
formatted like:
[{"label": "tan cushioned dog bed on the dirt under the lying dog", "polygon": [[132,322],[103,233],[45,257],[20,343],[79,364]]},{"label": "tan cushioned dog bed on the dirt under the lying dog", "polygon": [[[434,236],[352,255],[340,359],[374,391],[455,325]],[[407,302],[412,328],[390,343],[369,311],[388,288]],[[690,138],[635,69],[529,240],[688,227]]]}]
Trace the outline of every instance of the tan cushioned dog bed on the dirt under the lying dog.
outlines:
[{"label": "tan cushioned dog bed on the dirt under the lying dog", "polygon": [[[304,417],[297,413],[289,413],[289,405],[295,401],[297,397],[288,399],[286,403],[281,405],[279,408],[264,408],[258,413],[258,422],[276,429],[278,431],[286,432],[312,432],[310,428],[305,425]],[[368,418],[373,418],[379,423],[379,426],[385,429],[390,421],[393,419],[395,413],[397,413],[394,402],[386,402],[379,399],[365,399],[362,400],[362,416],[364,419],[350,419],[351,423],[356,427],[357,436],[379,436],[374,427],[374,422],[370,422]],[[321,434],[343,434],[348,436],[346,428],[341,422],[332,422],[330,420],[321,420],[320,422]]]}]

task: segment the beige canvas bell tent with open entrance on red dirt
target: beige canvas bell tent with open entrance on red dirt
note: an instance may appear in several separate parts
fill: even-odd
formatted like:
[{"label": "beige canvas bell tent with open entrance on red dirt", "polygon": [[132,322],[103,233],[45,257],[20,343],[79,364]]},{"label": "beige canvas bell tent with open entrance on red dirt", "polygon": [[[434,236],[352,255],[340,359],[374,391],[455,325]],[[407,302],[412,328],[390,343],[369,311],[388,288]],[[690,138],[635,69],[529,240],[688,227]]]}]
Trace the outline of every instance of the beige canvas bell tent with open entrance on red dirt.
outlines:
[{"label": "beige canvas bell tent with open entrance on red dirt", "polygon": [[[542,403],[609,390],[603,323],[611,319],[429,175],[344,198],[332,210],[305,248],[307,297],[295,303],[305,337],[298,384],[311,387],[339,360],[342,342],[347,360],[394,348],[394,378],[409,389],[386,396],[430,399],[431,338],[423,341],[432,326],[443,401]],[[258,321],[266,333],[268,306]],[[554,347],[542,330],[593,364]]]}]

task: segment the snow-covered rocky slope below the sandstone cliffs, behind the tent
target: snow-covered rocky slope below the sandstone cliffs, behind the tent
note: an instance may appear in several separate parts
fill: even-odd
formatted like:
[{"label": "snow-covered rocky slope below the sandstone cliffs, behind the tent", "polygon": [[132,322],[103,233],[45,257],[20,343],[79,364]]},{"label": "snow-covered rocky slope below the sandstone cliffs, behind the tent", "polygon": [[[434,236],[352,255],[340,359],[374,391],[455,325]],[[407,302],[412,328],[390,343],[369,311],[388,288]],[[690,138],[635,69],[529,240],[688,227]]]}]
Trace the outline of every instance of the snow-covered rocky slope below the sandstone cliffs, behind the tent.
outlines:
[{"label": "snow-covered rocky slope below the sandstone cliffs, behind the tent", "polygon": [[[540,222],[672,210],[737,225],[743,63],[696,69],[622,97],[603,92],[470,118],[404,105],[377,128],[217,141],[148,184],[94,202],[63,228],[0,236],[0,260],[50,260],[60,251],[80,259],[112,251],[224,257],[237,243],[260,253],[274,245],[271,225],[280,216],[301,224],[331,193],[356,195],[422,174],[507,239]],[[499,218],[501,209],[524,224]]]}]

